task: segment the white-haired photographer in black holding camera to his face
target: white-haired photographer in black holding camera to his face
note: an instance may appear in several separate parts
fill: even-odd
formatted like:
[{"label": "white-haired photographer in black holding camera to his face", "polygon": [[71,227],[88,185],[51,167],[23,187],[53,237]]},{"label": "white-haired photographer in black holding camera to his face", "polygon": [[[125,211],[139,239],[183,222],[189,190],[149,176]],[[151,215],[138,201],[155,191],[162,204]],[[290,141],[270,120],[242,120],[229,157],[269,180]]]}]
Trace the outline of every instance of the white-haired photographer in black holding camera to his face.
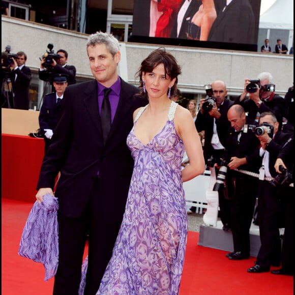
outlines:
[{"label": "white-haired photographer in black holding camera to his face", "polygon": [[[263,72],[257,77],[256,88],[249,88],[250,79],[246,78],[244,83],[244,92],[235,100],[235,104],[240,104],[248,112],[250,119],[255,120],[259,114],[265,111],[271,111],[277,117],[279,130],[282,130],[283,115],[286,105],[284,98],[275,94],[275,85],[271,73]],[[252,82],[253,83],[253,82]],[[253,85],[253,84],[251,84]],[[251,86],[250,85],[250,86]],[[249,96],[249,98],[247,98]]]}]

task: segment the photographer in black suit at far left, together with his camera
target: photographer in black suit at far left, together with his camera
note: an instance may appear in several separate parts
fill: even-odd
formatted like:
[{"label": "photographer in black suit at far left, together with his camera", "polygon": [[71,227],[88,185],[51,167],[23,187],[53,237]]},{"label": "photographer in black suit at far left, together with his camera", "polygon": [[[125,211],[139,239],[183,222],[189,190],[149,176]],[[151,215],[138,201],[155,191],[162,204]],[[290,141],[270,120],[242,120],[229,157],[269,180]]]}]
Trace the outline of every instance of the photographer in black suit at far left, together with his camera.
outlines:
[{"label": "photographer in black suit at far left, together with his camera", "polygon": [[[9,56],[12,57],[9,57]],[[14,56],[15,55],[15,56]],[[9,96],[12,96],[12,100],[4,102],[3,107],[11,107],[15,109],[29,109],[29,87],[31,81],[31,69],[25,66],[26,54],[23,51],[19,51],[16,54],[8,53],[6,67],[6,82],[11,82],[11,88]],[[2,68],[2,70],[4,70]],[[10,99],[10,98],[8,98]]]}]

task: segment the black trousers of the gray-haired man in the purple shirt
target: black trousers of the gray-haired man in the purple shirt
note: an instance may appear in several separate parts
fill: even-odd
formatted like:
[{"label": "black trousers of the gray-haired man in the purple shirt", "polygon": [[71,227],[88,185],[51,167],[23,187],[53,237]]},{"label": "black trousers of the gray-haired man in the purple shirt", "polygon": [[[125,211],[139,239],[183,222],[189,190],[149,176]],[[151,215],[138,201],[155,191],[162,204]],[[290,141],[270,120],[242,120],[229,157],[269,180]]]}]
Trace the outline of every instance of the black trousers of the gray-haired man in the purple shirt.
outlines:
[{"label": "black trousers of the gray-haired man in the purple shirt", "polygon": [[100,202],[97,179],[81,216],[70,218],[58,214],[60,253],[54,295],[78,294],[87,233],[88,268],[84,295],[94,295],[99,288],[122,221],[105,220]]}]

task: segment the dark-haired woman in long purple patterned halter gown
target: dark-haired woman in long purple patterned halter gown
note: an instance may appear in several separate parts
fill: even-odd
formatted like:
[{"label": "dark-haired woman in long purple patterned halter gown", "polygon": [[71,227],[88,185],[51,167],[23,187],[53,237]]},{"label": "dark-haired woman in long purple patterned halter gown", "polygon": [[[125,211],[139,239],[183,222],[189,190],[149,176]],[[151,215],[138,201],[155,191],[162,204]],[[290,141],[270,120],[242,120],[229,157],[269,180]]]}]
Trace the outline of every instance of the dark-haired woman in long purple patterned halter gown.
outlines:
[{"label": "dark-haired woman in long purple patterned halter gown", "polygon": [[[189,110],[169,99],[180,66],[164,48],[141,63],[141,95],[127,144],[134,158],[123,222],[97,294],[178,294],[187,241],[182,183],[203,173]],[[186,150],[190,164],[182,170]],[[115,184],[114,184],[115,185]]]}]

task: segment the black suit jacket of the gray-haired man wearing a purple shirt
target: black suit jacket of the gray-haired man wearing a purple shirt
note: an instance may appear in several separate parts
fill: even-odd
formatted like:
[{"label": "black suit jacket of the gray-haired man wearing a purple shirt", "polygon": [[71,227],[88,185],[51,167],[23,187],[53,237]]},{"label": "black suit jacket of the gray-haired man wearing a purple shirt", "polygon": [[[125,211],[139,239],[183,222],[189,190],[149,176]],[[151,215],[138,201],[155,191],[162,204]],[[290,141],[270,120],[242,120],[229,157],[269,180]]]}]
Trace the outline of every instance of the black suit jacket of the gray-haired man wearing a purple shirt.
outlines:
[{"label": "black suit jacket of the gray-haired man wearing a purple shirt", "polygon": [[62,214],[78,217],[82,213],[99,171],[98,198],[105,218],[122,220],[134,165],[126,139],[134,110],[146,104],[145,99],[134,97],[136,93],[138,88],[121,80],[119,104],[104,145],[97,81],[67,86],[37,185],[37,189],[53,188],[61,171],[55,196]]}]

